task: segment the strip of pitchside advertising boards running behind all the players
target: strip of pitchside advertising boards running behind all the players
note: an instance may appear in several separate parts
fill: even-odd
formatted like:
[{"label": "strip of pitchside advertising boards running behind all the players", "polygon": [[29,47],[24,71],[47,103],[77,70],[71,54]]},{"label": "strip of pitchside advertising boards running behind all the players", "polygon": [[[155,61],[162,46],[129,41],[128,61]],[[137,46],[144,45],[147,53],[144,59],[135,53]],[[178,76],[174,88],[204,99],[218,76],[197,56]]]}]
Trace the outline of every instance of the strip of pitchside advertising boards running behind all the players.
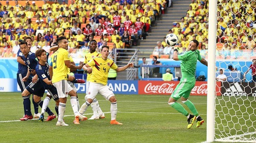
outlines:
[{"label": "strip of pitchside advertising boards running behind all the players", "polygon": [[[14,78],[0,78],[0,92],[20,92],[17,80]],[[179,81],[153,80],[109,80],[108,86],[115,94],[125,95],[172,95]],[[75,84],[77,93],[86,93],[86,83]],[[216,82],[217,96],[254,96],[256,97],[256,83]],[[196,81],[191,96],[206,96],[207,82]]]}]

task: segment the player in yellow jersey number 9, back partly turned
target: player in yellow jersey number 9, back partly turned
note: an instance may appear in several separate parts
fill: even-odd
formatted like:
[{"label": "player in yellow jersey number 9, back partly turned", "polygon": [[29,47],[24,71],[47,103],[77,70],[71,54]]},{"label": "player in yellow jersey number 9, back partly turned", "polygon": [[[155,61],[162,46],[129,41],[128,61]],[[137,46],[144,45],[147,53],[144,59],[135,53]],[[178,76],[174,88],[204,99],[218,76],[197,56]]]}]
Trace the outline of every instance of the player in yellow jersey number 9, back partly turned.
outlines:
[{"label": "player in yellow jersey number 9, back partly turned", "polygon": [[75,66],[70,62],[69,52],[68,49],[68,40],[66,37],[61,36],[57,38],[57,45],[58,50],[54,52],[52,58],[52,67],[53,67],[53,76],[52,76],[52,83],[54,87],[57,89],[57,93],[59,96],[59,115],[58,121],[56,126],[68,126],[63,121],[64,112],[66,109],[67,97],[68,95],[71,96],[71,106],[73,108],[75,114],[75,124],[80,124],[80,120],[86,120],[87,118],[80,115],[78,113],[77,102],[76,102],[76,93],[70,87],[69,83],[67,82],[67,74],[68,69],[82,69],[82,65]]}]

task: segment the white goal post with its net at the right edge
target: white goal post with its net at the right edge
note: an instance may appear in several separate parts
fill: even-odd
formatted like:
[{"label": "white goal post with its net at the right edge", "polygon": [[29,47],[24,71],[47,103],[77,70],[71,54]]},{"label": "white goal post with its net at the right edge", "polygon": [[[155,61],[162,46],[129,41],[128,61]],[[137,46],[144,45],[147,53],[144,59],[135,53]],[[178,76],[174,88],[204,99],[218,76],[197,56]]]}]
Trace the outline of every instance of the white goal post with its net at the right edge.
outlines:
[{"label": "white goal post with its net at the right edge", "polygon": [[[219,2],[223,2],[223,1],[219,1]],[[245,3],[244,0],[234,0],[234,1],[230,0],[230,1],[232,1],[232,3],[235,3],[235,2],[241,3],[241,7]],[[248,9],[250,9],[249,7],[251,7],[249,5],[250,2],[252,1],[246,1]],[[218,23],[217,7],[227,6],[227,3],[223,5],[222,3],[220,3],[218,6],[217,4],[218,4],[218,0],[209,1],[208,53],[210,54],[208,54],[206,142],[212,142],[212,141],[256,142],[256,100],[255,100],[256,83],[253,82],[252,80],[245,80],[245,78],[242,77],[242,75],[245,75],[246,73],[244,69],[249,69],[248,65],[250,65],[252,63],[251,60],[254,59],[250,57],[256,58],[256,52],[255,52],[256,47],[249,49],[249,48],[241,47],[242,44],[240,44],[240,43],[245,44],[245,42],[240,39],[242,35],[246,38],[248,37],[248,39],[250,35],[252,36],[254,35],[254,38],[252,39],[255,40],[256,30],[255,31],[253,30],[254,32],[251,33],[251,30],[254,27],[253,26],[249,27],[247,25],[247,27],[242,27],[242,33],[239,33],[239,36],[237,39],[229,35],[229,37],[235,39],[234,40],[235,42],[232,43],[232,46],[238,48],[237,51],[239,52],[239,56],[233,59],[230,58],[228,60],[225,58],[222,61],[220,60],[221,62],[216,61],[217,54],[221,55],[218,53],[217,43],[216,43],[217,42],[216,38],[219,36],[217,35],[217,32],[218,30],[220,30],[220,27],[217,26],[217,23]],[[235,6],[236,4],[232,4],[232,7],[230,6],[230,9],[234,8]],[[236,8],[236,9],[239,11],[239,9],[241,8]],[[225,10],[222,10],[222,11],[224,13],[227,13],[227,15],[229,14]],[[245,11],[246,11],[247,17],[250,17],[250,14],[247,14],[247,11],[249,10],[246,9]],[[241,23],[243,24],[242,20],[244,19],[237,20],[236,19],[237,15],[233,13],[231,13],[230,15],[234,15],[233,21],[238,22],[238,23],[232,23],[232,22],[229,23],[229,24],[236,25],[234,26],[233,31],[237,31],[236,28],[241,26]],[[253,13],[252,15],[255,15],[255,13]],[[219,15],[219,18],[222,18],[222,15]],[[250,20],[250,18],[247,18],[247,21],[248,19]],[[254,20],[253,22],[256,22],[256,20]],[[250,23],[253,24],[253,22],[250,22]],[[226,24],[228,25],[228,23]],[[223,37],[225,37],[225,34],[223,35]],[[219,39],[221,39],[221,37],[219,37]],[[238,39],[241,40],[242,42],[240,41],[240,43],[237,43]],[[248,41],[248,39],[246,40]],[[249,56],[249,58],[247,57],[247,59],[245,59],[244,58],[245,56]],[[225,82],[225,83],[222,82],[221,87],[217,87],[217,88],[224,89],[225,94],[222,92],[221,96],[217,96],[216,68],[223,68],[220,66],[221,64],[219,64],[220,67],[218,67],[217,63],[218,62],[222,63],[222,65],[225,65],[226,67],[228,67],[228,65],[232,64],[230,61],[232,63],[239,63],[241,61],[245,62],[243,66],[240,66],[239,64],[237,65],[237,66],[240,66],[241,68],[241,71],[239,71],[239,74],[241,74],[241,77],[239,78],[241,79],[239,81],[233,80],[233,82]],[[228,85],[228,86],[225,86],[225,85]],[[249,92],[248,92],[248,89],[250,90]]]}]

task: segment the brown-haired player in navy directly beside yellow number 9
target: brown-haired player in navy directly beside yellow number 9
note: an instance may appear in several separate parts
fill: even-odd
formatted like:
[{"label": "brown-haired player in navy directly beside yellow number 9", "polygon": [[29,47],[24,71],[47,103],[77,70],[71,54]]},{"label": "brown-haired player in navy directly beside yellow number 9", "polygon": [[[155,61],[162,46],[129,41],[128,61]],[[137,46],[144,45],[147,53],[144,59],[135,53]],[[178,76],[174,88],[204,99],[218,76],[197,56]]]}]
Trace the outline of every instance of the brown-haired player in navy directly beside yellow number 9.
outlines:
[{"label": "brown-haired player in navy directly beside yellow number 9", "polygon": [[[49,104],[49,101],[52,97],[56,101],[56,104],[58,105],[59,98],[58,98],[57,90],[52,85],[51,77],[49,74],[49,64],[47,62],[49,53],[47,53],[44,49],[38,49],[35,52],[35,55],[36,55],[36,58],[38,59],[37,66],[35,68],[36,74],[39,77],[39,80],[42,83],[42,85],[45,87],[46,90],[48,90],[50,94],[50,95],[47,94],[47,97],[46,97],[47,100],[45,99],[44,102],[48,101],[48,104]],[[44,121],[44,112],[46,111],[48,104],[44,103],[42,105],[42,112],[41,112],[39,121]],[[56,112],[58,113],[57,110]],[[49,121],[49,119],[52,119],[52,118],[56,118],[56,116],[55,117],[54,116],[53,115],[48,116],[48,119],[46,121]]]}]

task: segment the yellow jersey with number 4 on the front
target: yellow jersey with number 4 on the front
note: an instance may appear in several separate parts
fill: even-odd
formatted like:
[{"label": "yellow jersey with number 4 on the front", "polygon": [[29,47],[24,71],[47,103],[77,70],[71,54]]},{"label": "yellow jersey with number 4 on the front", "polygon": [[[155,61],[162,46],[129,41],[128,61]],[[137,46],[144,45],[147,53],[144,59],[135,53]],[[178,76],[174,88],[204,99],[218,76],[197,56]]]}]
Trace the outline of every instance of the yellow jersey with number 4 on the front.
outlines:
[{"label": "yellow jersey with number 4 on the front", "polygon": [[88,65],[90,67],[93,67],[91,79],[90,82],[95,83],[102,83],[103,85],[106,85],[108,82],[108,75],[110,68],[113,70],[116,70],[118,67],[111,59],[103,60],[101,56],[97,56],[96,58],[92,59]]}]

